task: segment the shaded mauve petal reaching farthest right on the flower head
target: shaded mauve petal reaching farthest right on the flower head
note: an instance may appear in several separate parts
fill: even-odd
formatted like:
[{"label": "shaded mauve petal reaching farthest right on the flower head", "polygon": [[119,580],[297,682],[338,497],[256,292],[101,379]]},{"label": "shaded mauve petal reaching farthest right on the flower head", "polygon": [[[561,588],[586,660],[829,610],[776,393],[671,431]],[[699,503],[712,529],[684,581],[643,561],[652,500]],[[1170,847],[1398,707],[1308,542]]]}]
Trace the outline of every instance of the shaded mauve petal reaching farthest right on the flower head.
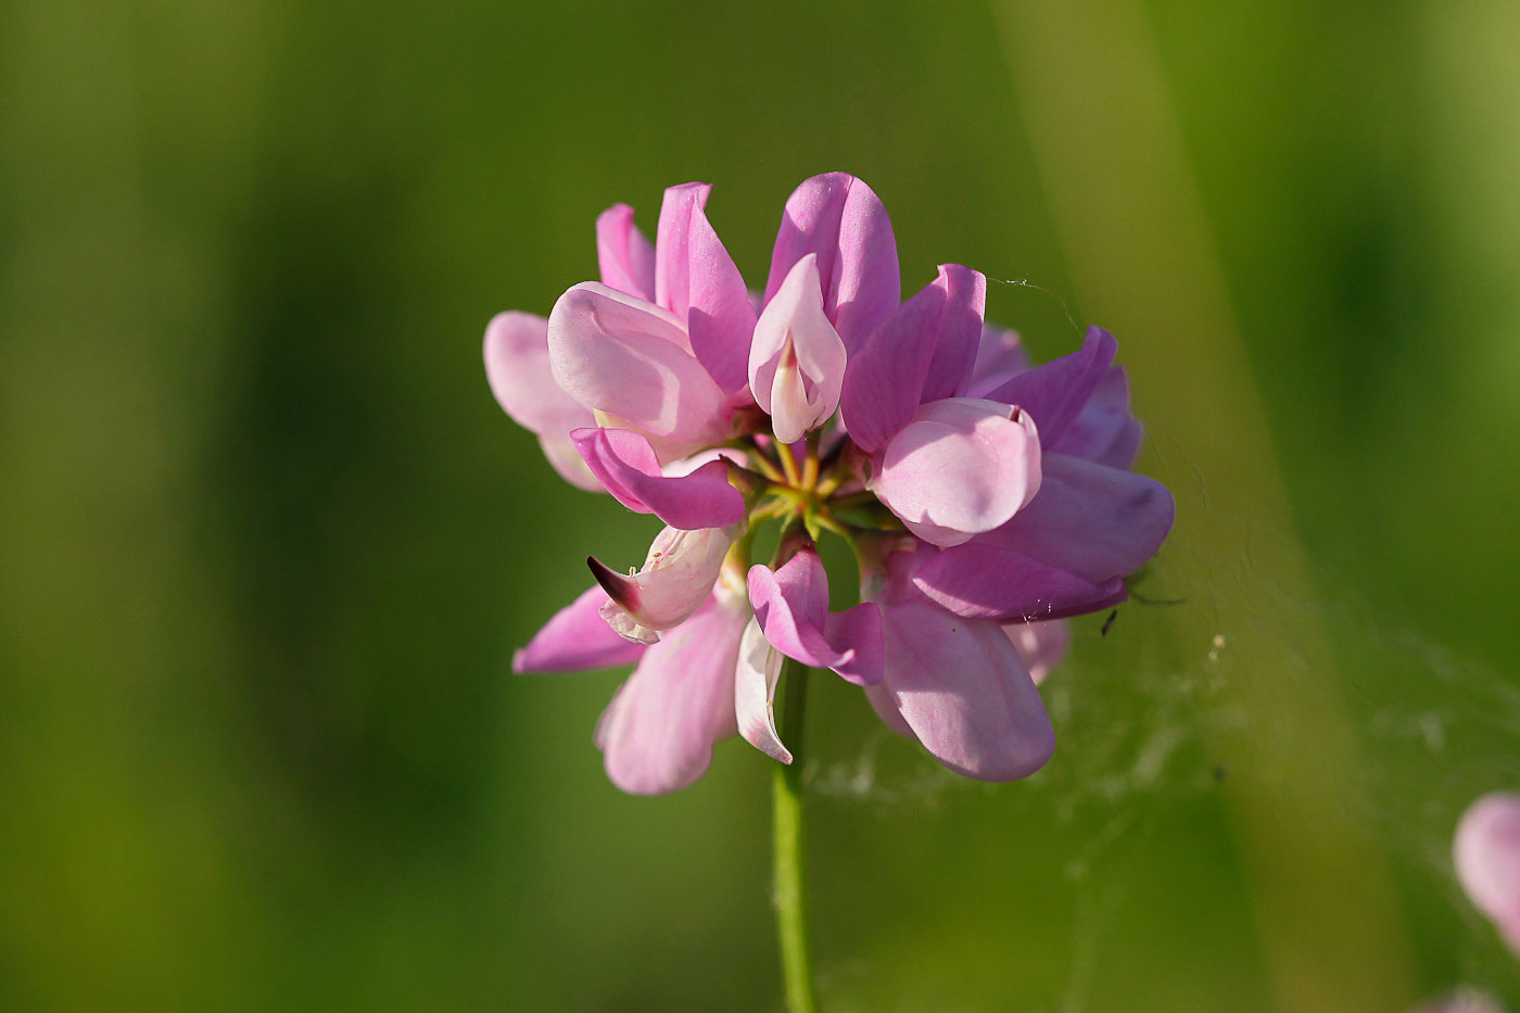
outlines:
[{"label": "shaded mauve petal reaching farthest right on the flower head", "polygon": [[1145,566],[1172,531],[1175,514],[1172,494],[1155,479],[1047,453],[1040,493],[977,541],[1096,584]]}]

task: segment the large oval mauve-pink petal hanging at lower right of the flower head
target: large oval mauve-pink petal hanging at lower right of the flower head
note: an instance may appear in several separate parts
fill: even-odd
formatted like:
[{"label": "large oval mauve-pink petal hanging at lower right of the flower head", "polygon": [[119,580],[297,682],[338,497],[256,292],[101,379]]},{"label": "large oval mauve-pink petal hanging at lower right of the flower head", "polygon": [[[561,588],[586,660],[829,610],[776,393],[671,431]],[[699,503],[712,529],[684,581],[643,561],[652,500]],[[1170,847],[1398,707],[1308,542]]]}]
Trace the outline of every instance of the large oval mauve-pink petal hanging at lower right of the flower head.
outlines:
[{"label": "large oval mauve-pink petal hanging at lower right of the flower head", "polygon": [[935,759],[979,780],[1017,780],[1044,767],[1055,730],[996,624],[914,602],[894,605],[885,630],[883,703]]}]

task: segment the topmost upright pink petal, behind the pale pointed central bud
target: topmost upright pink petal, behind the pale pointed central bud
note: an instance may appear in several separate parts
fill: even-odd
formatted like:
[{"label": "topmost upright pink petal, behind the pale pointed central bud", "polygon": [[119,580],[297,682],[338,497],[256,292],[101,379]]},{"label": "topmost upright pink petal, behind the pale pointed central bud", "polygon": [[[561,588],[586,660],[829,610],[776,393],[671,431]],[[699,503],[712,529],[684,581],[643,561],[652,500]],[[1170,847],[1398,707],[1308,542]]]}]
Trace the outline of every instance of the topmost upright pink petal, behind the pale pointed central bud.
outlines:
[{"label": "topmost upright pink petal, behind the pale pointed central bud", "polygon": [[901,292],[892,222],[871,187],[830,172],[792,193],[771,254],[766,303],[807,254],[818,254],[824,312],[845,347],[854,348],[897,309]]}]

